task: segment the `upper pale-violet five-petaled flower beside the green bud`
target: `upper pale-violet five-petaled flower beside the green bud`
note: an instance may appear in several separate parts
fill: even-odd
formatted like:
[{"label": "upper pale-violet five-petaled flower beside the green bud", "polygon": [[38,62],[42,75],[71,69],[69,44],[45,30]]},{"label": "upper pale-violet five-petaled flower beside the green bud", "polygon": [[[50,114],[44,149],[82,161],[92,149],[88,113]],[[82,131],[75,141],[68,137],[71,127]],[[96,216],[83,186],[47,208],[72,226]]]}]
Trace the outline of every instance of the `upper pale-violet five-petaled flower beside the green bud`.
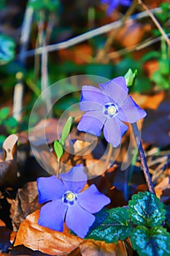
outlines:
[{"label": "upper pale-violet five-petaled flower beside the green bud", "polygon": [[99,84],[99,87],[82,86],[80,110],[87,112],[77,129],[100,136],[104,128],[104,138],[117,147],[128,129],[123,121],[134,123],[147,113],[128,96],[125,78],[114,78]]}]

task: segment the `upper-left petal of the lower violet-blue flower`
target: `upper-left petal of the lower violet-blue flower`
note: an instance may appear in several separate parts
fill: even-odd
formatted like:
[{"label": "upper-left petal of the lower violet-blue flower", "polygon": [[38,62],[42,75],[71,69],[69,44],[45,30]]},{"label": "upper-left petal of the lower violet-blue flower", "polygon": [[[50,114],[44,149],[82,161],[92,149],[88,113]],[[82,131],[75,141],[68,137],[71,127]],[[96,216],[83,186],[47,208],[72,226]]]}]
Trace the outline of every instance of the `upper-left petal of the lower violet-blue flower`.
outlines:
[{"label": "upper-left petal of the lower violet-blue flower", "polygon": [[45,203],[53,199],[61,199],[66,192],[62,181],[55,177],[40,177],[36,179],[39,191],[39,203]]}]

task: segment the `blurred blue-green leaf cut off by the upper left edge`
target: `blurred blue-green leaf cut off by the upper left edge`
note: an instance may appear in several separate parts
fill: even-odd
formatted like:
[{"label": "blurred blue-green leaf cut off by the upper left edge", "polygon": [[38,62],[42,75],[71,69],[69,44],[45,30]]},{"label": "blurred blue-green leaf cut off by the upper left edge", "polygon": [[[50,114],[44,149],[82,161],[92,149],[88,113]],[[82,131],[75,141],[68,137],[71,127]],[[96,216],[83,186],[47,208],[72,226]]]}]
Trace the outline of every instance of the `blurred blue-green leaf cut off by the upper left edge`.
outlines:
[{"label": "blurred blue-green leaf cut off by the upper left edge", "polygon": [[0,34],[0,64],[6,64],[15,56],[15,42],[4,34]]}]

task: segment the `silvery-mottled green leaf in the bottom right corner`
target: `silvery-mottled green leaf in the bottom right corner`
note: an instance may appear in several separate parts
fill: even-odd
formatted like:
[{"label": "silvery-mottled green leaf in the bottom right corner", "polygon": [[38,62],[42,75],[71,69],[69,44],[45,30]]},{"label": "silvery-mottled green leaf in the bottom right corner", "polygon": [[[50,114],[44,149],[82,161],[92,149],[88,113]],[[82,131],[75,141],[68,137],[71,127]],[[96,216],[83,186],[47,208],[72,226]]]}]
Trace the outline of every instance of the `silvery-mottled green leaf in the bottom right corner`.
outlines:
[{"label": "silvery-mottled green leaf in the bottom right corner", "polygon": [[170,234],[161,226],[152,227],[150,230],[137,226],[131,234],[131,242],[139,256],[170,255]]}]

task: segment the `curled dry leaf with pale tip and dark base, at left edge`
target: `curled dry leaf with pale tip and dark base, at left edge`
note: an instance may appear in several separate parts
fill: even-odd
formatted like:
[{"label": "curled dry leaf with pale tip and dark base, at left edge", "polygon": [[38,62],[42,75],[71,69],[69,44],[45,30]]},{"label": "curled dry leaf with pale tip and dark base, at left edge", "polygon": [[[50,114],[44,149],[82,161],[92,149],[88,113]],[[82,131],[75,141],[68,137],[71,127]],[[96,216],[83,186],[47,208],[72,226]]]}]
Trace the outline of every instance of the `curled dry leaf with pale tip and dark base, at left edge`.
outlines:
[{"label": "curled dry leaf with pale tip and dark base, at left edge", "polygon": [[16,187],[17,176],[17,135],[9,135],[3,143],[3,160],[0,162],[0,188]]}]

